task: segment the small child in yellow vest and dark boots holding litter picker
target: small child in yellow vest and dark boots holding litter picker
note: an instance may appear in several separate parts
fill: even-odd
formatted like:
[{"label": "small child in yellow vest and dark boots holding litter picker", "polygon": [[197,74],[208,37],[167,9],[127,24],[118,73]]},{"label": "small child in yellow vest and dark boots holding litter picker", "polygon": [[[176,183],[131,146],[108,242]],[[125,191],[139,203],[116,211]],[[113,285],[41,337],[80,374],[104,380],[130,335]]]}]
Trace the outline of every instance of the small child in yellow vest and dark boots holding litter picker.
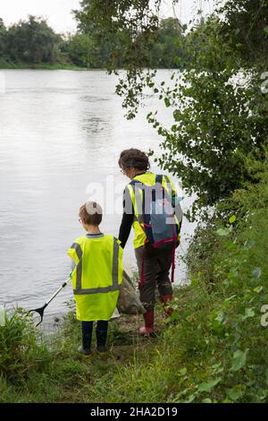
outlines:
[{"label": "small child in yellow vest and dark boots holding litter picker", "polygon": [[91,354],[93,322],[96,321],[96,348],[105,352],[108,321],[115,310],[122,280],[122,248],[113,236],[102,234],[102,208],[87,202],[80,208],[80,223],[87,231],[68,251],[75,262],[71,273],[77,319],[82,322],[80,354]]}]

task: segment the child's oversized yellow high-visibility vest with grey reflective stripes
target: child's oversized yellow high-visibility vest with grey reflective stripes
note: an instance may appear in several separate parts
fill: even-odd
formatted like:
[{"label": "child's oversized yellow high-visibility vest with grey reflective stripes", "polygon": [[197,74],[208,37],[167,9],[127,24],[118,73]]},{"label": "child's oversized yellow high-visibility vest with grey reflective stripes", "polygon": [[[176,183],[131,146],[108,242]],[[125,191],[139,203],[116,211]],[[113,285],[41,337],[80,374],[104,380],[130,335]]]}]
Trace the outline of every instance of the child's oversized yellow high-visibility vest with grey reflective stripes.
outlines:
[{"label": "child's oversized yellow high-visibility vest with grey reflective stripes", "polygon": [[77,318],[108,321],[115,310],[123,274],[120,241],[110,235],[80,236],[68,255],[76,264],[71,273]]}]

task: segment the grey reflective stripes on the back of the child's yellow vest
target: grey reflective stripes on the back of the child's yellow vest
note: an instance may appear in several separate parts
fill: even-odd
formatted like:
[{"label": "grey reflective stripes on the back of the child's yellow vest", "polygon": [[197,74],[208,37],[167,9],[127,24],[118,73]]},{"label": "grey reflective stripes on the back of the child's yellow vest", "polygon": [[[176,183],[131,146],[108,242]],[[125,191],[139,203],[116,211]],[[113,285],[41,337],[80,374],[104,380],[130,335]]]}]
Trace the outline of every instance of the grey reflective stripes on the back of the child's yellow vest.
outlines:
[{"label": "grey reflective stripes on the back of the child's yellow vest", "polygon": [[119,265],[119,247],[116,238],[113,238],[113,285],[109,287],[101,288],[87,288],[82,289],[82,257],[83,252],[81,246],[78,243],[71,245],[71,248],[74,249],[80,259],[80,262],[76,266],[76,289],[73,290],[73,293],[76,296],[84,294],[105,294],[106,292],[117,291],[120,289],[118,283],[118,265]]}]

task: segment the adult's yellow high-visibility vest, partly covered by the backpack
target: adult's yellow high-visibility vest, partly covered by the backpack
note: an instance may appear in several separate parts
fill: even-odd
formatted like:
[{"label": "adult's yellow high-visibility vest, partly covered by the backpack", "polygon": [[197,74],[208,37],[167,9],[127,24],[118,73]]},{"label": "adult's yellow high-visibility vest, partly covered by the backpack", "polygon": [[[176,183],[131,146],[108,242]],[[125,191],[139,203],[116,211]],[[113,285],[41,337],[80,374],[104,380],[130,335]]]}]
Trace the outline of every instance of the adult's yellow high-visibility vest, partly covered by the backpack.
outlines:
[{"label": "adult's yellow high-visibility vest, partly covered by the backpack", "polygon": [[[138,180],[144,185],[155,185],[155,179],[156,179],[156,175],[153,173],[141,174],[140,176],[134,177],[134,180]],[[169,176],[163,176],[162,185],[163,185],[163,188],[165,188],[168,191],[171,197],[177,194],[175,186],[173,185],[172,180],[170,179]],[[132,228],[134,229],[133,243],[134,243],[134,248],[138,248],[145,244],[147,236],[144,232],[143,223],[139,220],[138,203],[137,203],[138,198],[135,195],[135,190],[133,188],[133,185],[127,185],[127,188],[130,191],[130,198],[131,198],[133,209],[134,209],[134,220],[132,224]],[[142,190],[141,189],[138,189],[138,190],[140,193],[140,199],[142,200]],[[176,222],[179,224],[177,217],[175,216],[174,218]],[[178,236],[178,238],[180,238],[180,236]]]}]

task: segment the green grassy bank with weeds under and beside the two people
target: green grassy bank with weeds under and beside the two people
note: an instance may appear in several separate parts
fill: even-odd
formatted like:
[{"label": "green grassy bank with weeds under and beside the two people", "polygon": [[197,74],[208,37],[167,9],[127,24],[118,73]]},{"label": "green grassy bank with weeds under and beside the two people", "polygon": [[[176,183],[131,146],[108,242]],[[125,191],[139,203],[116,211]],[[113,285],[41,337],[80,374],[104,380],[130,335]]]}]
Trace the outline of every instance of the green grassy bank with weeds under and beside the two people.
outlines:
[{"label": "green grassy bank with weeds under and beside the two people", "polygon": [[197,229],[188,253],[190,283],[176,290],[168,324],[157,308],[155,338],[140,339],[140,320],[124,317],[111,322],[107,354],[80,357],[80,325],[72,314],[63,331],[43,344],[29,323],[16,318],[0,328],[0,400],[267,402],[264,167],[254,169],[255,185],[222,203],[230,220]]}]

